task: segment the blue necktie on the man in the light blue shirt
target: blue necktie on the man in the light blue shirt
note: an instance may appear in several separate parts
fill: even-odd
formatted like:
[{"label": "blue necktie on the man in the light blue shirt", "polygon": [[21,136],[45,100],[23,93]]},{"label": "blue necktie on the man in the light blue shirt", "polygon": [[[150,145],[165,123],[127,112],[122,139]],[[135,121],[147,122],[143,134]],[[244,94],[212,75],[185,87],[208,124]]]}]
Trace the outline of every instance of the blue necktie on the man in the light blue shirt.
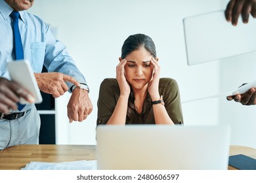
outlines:
[{"label": "blue necktie on the man in the light blue shirt", "polygon": [[[20,14],[14,10],[10,16],[13,20],[12,31],[13,31],[13,37],[14,37],[15,59],[16,60],[24,59],[22,41],[21,41],[21,37],[20,37],[20,30],[18,29],[18,17],[20,16]],[[25,105],[18,103],[18,110],[22,110],[22,108],[24,108],[24,107],[25,107]]]}]

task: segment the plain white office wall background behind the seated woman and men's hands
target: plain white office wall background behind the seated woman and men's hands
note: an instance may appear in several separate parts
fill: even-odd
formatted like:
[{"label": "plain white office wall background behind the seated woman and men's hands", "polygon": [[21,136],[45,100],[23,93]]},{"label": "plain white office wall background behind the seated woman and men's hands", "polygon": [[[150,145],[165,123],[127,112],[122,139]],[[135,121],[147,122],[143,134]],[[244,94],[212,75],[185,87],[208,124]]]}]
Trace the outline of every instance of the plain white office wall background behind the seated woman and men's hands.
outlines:
[{"label": "plain white office wall background behind the seated woman and men's hands", "polygon": [[228,102],[224,95],[186,103],[232,92],[240,84],[256,79],[255,52],[198,65],[187,64],[182,20],[224,10],[227,3],[226,0],[35,1],[29,11],[49,23],[56,38],[66,44],[87,79],[94,106],[87,120],[69,124],[66,105],[70,93],[56,99],[56,144],[96,144],[100,83],[104,78],[116,77],[123,41],[129,35],[144,33],[156,44],[161,77],[175,78],[179,84],[184,124],[228,124],[232,131],[231,144],[256,148],[255,106]]}]

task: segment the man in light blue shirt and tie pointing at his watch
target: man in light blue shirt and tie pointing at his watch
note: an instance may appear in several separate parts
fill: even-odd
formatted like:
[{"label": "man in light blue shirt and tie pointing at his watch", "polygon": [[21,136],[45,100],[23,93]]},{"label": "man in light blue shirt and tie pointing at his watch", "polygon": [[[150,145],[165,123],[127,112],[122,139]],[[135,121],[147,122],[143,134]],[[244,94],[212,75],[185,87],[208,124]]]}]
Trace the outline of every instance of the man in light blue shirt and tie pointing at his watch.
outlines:
[{"label": "man in light blue shirt and tie pointing at his watch", "polygon": [[[0,77],[9,79],[7,62],[15,58],[10,15],[16,10],[24,59],[30,61],[39,89],[53,97],[60,97],[68,90],[72,92],[68,118],[70,122],[81,122],[93,110],[87,82],[68,55],[66,46],[54,38],[49,25],[25,11],[33,3],[33,0],[0,0]],[[41,73],[43,65],[49,73]],[[22,110],[14,107],[0,116],[0,150],[17,144],[38,143],[40,118],[35,105],[26,105]]]}]

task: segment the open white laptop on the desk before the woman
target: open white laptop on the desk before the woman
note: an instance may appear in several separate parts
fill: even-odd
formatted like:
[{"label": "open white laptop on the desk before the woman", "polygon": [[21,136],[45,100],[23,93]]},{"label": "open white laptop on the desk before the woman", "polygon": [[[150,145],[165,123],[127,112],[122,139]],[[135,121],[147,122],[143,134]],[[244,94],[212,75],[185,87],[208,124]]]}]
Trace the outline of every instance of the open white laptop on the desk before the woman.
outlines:
[{"label": "open white laptop on the desk before the woman", "polygon": [[228,126],[98,125],[97,169],[223,170]]}]

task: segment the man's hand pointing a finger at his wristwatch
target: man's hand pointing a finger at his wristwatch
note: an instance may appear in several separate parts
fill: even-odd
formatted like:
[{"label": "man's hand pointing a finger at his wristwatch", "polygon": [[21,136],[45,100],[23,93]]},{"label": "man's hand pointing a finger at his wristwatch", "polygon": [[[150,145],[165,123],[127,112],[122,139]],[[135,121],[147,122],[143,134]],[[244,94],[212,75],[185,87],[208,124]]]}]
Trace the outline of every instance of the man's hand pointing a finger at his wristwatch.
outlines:
[{"label": "man's hand pointing a finger at his wristwatch", "polygon": [[72,82],[75,86],[80,86],[80,83],[72,76],[62,73],[35,73],[35,78],[39,89],[42,92],[53,94],[53,97],[58,98],[68,91],[68,85],[65,81]]}]

